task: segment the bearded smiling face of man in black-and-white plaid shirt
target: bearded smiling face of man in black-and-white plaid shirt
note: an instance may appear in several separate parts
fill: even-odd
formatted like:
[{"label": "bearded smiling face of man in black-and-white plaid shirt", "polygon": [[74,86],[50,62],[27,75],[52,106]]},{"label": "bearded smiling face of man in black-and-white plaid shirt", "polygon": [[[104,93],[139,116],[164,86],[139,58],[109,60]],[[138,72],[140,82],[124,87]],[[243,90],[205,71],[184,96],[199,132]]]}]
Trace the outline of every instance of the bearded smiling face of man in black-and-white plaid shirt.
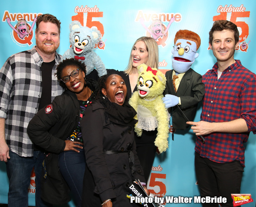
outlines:
[{"label": "bearded smiling face of man in black-and-white plaid shirt", "polygon": [[35,40],[36,50],[40,55],[52,55],[60,45],[58,26],[54,23],[42,21],[39,23]]}]

